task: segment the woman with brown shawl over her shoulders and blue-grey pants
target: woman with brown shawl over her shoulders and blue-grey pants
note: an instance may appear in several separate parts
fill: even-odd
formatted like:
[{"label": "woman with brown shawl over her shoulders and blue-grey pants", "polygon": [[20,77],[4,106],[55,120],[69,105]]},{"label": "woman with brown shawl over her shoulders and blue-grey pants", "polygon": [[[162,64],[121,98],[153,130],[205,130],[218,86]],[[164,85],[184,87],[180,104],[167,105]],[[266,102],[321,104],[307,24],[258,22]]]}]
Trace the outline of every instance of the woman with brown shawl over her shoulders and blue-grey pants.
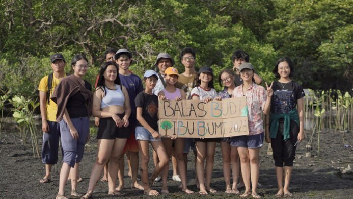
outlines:
[{"label": "woman with brown shawl over her shoulders and blue-grey pants", "polygon": [[88,60],[84,55],[77,54],[71,61],[73,74],[63,78],[51,100],[58,105],[57,121],[61,132],[63,147],[63,166],[60,171],[59,192],[56,198],[64,196],[67,179],[71,177],[71,195],[77,193],[79,162],[82,160],[85,144],[90,139],[90,115],[92,112],[92,86],[83,80],[88,70]]}]

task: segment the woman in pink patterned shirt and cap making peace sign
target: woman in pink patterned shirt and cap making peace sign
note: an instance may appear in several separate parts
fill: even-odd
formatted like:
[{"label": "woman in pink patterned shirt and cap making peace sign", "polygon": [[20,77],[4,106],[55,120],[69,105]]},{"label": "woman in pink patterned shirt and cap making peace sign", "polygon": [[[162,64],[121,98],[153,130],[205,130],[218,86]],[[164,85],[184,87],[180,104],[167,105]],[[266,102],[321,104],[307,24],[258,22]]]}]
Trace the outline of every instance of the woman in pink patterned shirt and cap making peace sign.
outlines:
[{"label": "woman in pink patterned shirt and cap making peace sign", "polygon": [[[232,97],[246,97],[248,107],[249,135],[231,138],[231,154],[239,154],[241,176],[245,185],[245,192],[240,197],[252,195],[260,198],[257,194],[259,179],[259,151],[263,146],[264,129],[261,114],[268,114],[273,95],[272,85],[267,85],[267,90],[253,82],[255,74],[251,63],[242,63],[239,66],[240,77],[243,84],[235,87]],[[251,178],[250,178],[251,177]],[[251,180],[250,180],[251,179]],[[252,189],[250,189],[250,182]]]}]

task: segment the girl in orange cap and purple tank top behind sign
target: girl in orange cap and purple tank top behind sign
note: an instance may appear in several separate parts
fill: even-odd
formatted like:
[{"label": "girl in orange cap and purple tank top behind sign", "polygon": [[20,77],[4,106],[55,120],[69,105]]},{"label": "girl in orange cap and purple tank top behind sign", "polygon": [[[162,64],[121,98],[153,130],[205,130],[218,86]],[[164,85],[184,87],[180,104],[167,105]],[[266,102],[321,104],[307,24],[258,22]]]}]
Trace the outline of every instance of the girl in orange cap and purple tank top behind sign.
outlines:
[{"label": "girl in orange cap and purple tank top behind sign", "polygon": [[[158,93],[158,96],[160,96],[160,99],[169,99],[169,100],[186,99],[185,92],[175,87],[175,84],[178,82],[178,77],[179,77],[178,70],[174,67],[169,67],[166,69],[164,76],[166,80],[166,88]],[[169,158],[172,155],[173,141],[175,141],[174,150],[177,158],[179,174],[181,177],[182,191],[188,194],[193,193],[193,191],[187,188],[186,170],[185,170],[185,163],[184,163],[184,138],[164,137],[162,138],[162,141],[166,147],[166,151]],[[168,187],[167,187],[168,170],[169,170],[169,163],[163,170],[163,175],[162,175],[163,185],[162,185],[162,191],[161,191],[162,193],[169,193]]]}]

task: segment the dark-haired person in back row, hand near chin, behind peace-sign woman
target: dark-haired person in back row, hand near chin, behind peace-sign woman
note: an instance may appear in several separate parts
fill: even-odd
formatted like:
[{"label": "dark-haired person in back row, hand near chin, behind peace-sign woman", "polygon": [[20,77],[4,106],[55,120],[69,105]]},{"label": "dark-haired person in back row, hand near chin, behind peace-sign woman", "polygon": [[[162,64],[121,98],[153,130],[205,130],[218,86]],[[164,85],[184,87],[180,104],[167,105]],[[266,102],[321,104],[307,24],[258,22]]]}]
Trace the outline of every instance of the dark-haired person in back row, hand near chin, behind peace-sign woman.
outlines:
[{"label": "dark-haired person in back row, hand near chin, behind peace-sign woman", "polygon": [[[234,76],[234,83],[235,86],[239,86],[240,84],[243,83],[242,79],[240,78],[240,70],[239,70],[239,66],[242,63],[247,63],[249,62],[250,56],[247,52],[241,50],[241,49],[237,49],[236,51],[234,51],[233,55],[232,55],[232,63],[233,63],[233,70],[236,72],[235,76]],[[254,73],[254,80],[253,80],[256,84],[261,84],[262,83],[262,78]]]}]

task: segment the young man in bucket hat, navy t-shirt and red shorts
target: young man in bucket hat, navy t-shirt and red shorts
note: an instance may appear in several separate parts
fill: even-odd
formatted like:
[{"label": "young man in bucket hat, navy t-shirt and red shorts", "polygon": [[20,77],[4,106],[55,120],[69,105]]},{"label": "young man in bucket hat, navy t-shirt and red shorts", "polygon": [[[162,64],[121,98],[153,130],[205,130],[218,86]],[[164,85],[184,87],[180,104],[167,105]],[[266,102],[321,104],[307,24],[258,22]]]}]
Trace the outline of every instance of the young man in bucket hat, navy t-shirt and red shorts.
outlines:
[{"label": "young man in bucket hat, navy t-shirt and red shorts", "polygon": [[[124,153],[127,152],[126,156],[129,162],[129,170],[131,170],[131,186],[142,190],[143,187],[137,182],[137,173],[139,170],[139,145],[135,139],[134,133],[137,123],[134,99],[137,94],[143,91],[142,80],[139,76],[131,73],[129,70],[132,63],[132,53],[127,49],[119,49],[114,55],[114,60],[119,65],[119,78],[121,84],[126,87],[130,98],[131,116],[129,117],[129,126],[131,132],[130,137],[127,138]],[[116,188],[116,191],[120,191],[124,188],[124,165],[123,156],[119,164],[119,186]]]}]

